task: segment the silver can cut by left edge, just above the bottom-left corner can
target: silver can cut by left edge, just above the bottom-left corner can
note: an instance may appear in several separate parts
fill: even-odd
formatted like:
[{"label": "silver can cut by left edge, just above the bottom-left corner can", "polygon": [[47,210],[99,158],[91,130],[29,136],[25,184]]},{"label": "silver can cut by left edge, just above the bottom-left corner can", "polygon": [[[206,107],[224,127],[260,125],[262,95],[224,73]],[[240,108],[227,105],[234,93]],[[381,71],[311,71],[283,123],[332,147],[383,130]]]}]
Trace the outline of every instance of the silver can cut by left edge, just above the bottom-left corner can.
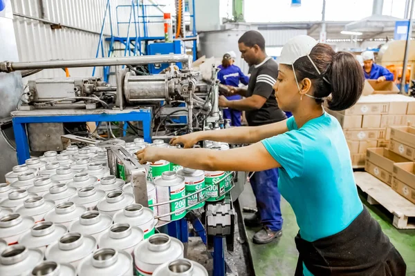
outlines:
[{"label": "silver can cut by left edge, just above the bottom-left corner can", "polygon": [[34,224],[33,217],[24,217],[18,213],[5,215],[0,218],[0,239],[4,239],[8,245],[17,244],[19,236]]}]

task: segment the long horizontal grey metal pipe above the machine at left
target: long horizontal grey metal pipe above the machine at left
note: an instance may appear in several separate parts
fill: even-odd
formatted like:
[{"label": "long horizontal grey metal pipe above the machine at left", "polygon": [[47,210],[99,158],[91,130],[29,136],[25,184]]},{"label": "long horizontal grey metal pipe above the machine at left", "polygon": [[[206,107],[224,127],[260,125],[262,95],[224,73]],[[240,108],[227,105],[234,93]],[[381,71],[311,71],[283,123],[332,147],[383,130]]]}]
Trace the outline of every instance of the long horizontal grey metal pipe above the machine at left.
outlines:
[{"label": "long horizontal grey metal pipe above the machine at left", "polygon": [[31,61],[31,62],[0,62],[0,72],[13,72],[17,70],[52,69],[52,68],[79,68],[93,66],[116,66],[116,65],[145,65],[149,63],[176,63],[182,62],[183,68],[192,66],[190,55],[152,55],[139,57],[103,57],[99,59],[72,59],[53,61]]}]

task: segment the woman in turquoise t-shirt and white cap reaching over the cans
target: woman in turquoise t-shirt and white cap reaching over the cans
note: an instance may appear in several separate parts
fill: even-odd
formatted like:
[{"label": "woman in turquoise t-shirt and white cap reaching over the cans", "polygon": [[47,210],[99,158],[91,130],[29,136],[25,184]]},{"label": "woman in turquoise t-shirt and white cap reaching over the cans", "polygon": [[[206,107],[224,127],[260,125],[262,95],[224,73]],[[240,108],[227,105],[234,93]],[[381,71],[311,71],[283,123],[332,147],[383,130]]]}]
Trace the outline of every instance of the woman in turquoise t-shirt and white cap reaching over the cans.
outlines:
[{"label": "woman in turquoise t-shirt and white cap reaching over the cans", "polygon": [[326,99],[331,110],[358,101],[364,83],[360,64],[353,55],[336,53],[308,36],[288,41],[279,63],[277,103],[293,117],[267,126],[194,132],[171,141],[185,148],[202,140],[251,146],[223,152],[147,147],[137,152],[138,159],[210,171],[279,168],[279,191],[299,226],[295,275],[405,275],[402,257],[358,197],[342,128],[322,107]]}]

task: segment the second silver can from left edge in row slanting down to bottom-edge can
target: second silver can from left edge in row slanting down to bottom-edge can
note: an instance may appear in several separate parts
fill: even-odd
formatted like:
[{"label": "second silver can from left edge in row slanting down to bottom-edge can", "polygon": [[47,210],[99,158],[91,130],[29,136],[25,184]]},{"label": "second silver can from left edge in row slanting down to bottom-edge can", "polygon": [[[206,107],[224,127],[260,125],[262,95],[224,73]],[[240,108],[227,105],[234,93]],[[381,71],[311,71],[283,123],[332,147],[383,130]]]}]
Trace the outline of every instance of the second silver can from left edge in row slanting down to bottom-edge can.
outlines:
[{"label": "second silver can from left edge in row slanting down to bottom-edge can", "polygon": [[30,231],[21,235],[17,242],[27,248],[37,248],[45,253],[49,244],[53,244],[67,232],[68,229],[61,224],[42,221],[30,228]]}]

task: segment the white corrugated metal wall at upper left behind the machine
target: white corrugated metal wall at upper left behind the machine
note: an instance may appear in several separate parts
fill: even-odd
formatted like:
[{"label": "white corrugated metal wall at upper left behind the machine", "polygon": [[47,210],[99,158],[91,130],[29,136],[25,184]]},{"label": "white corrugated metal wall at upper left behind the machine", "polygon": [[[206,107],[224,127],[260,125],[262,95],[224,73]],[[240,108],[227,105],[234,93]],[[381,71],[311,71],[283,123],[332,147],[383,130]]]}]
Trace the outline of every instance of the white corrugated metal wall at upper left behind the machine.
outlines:
[{"label": "white corrugated metal wall at upper left behind the machine", "polygon": [[[113,19],[117,2],[111,0]],[[12,9],[19,14],[100,32],[106,3],[107,0],[13,0]],[[18,16],[13,21],[20,61],[95,57],[98,34],[68,28],[52,30],[49,24]],[[104,33],[110,33],[108,17]],[[73,77],[91,76],[92,68],[71,68],[69,72]],[[64,76],[63,70],[44,70],[31,77]]]}]

